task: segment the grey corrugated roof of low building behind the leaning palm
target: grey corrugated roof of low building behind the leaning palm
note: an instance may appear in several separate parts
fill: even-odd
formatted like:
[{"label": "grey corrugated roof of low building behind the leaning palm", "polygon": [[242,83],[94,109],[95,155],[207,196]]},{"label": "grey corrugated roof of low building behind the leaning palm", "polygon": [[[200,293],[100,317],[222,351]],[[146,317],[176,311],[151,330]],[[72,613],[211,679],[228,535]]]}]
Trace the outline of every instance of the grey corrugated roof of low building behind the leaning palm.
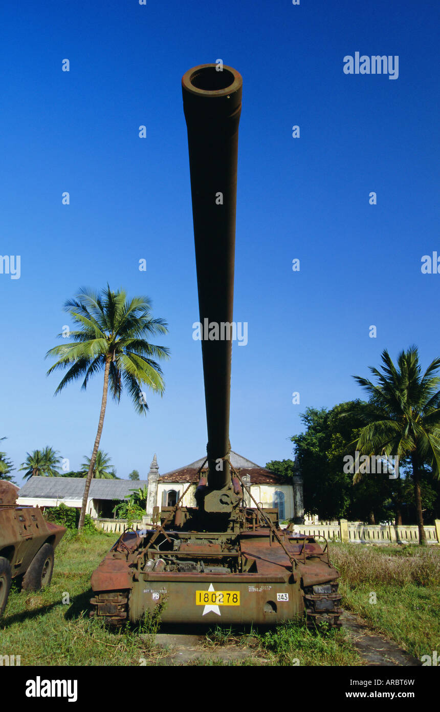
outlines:
[{"label": "grey corrugated roof of low building behind the leaning palm", "polygon": [[[146,480],[92,480],[89,499],[122,500],[130,490],[148,486]],[[31,477],[20,490],[22,497],[51,499],[82,499],[85,478]]]}]

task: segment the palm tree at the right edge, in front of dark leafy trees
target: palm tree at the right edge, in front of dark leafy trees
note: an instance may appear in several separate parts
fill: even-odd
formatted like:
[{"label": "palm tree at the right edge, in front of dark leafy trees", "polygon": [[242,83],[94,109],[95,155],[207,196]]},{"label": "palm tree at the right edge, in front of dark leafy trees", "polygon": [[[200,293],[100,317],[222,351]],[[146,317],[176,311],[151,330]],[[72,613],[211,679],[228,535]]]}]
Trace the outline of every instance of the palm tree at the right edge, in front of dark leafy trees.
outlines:
[{"label": "palm tree at the right edge, in front of dark leafy trees", "polygon": [[[434,359],[424,375],[416,346],[399,353],[397,367],[385,349],[382,352],[382,372],[370,367],[377,384],[353,378],[370,395],[372,409],[367,413],[367,425],[361,429],[356,449],[373,455],[410,458],[414,501],[419,526],[419,543],[426,545],[423,526],[421,471],[425,462],[431,464],[434,477],[440,476],[440,358]],[[358,481],[362,473],[355,473]]]}]

